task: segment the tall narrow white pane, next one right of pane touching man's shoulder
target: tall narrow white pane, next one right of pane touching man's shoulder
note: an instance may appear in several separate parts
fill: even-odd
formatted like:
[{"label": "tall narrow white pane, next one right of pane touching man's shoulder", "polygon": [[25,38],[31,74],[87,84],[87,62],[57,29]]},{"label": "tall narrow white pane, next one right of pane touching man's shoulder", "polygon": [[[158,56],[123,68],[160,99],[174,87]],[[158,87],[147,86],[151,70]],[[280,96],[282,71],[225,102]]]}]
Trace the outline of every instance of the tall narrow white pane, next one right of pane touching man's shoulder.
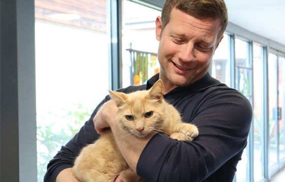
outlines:
[{"label": "tall narrow white pane, next one right of pane touching man's shoulder", "polygon": [[253,165],[254,181],[264,179],[263,47],[253,43]]}]

